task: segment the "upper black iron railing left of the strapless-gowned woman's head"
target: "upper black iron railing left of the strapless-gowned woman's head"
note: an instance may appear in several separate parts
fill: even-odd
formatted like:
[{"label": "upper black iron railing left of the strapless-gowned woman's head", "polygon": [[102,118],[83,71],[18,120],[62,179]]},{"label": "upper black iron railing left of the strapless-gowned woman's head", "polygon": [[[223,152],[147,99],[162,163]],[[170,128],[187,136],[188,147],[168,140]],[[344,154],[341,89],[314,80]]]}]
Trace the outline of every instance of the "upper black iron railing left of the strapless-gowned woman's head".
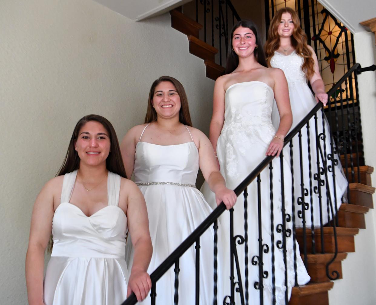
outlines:
[{"label": "upper black iron railing left of the strapless-gowned woman's head", "polygon": [[215,62],[225,65],[231,29],[240,21],[230,0],[195,0],[183,6],[183,14],[203,25],[199,38],[217,48]]}]

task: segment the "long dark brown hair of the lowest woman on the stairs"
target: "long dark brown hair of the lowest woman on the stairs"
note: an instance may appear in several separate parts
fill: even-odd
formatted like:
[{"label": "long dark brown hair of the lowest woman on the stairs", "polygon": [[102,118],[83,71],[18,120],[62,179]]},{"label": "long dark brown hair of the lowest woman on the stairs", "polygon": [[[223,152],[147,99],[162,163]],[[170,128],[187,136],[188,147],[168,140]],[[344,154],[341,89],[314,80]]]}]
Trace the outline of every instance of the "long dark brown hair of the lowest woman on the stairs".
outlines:
[{"label": "long dark brown hair of the lowest woman on the stairs", "polygon": [[[82,126],[90,121],[99,122],[100,124],[103,125],[103,127],[108,132],[108,136],[110,139],[110,153],[106,159],[106,168],[110,172],[118,174],[119,176],[123,178],[127,178],[127,175],[124,169],[123,159],[121,158],[119,141],[116,136],[114,127],[108,121],[108,119],[104,118],[103,116],[94,115],[94,114],[85,115],[83,118],[79,119],[79,121],[77,122],[76,127],[74,127],[74,130],[73,130],[73,133],[72,133],[69,145],[68,145],[67,154],[65,154],[64,162],[61,165],[59,172],[58,174],[56,174],[56,176],[65,175],[67,173],[75,171],[76,169],[79,169],[80,157],[78,156],[76,149],[74,149],[74,145],[77,141],[78,134]],[[52,240],[52,234],[51,234],[50,241],[47,245],[47,251],[52,252],[52,247],[53,247],[53,240]]]}]

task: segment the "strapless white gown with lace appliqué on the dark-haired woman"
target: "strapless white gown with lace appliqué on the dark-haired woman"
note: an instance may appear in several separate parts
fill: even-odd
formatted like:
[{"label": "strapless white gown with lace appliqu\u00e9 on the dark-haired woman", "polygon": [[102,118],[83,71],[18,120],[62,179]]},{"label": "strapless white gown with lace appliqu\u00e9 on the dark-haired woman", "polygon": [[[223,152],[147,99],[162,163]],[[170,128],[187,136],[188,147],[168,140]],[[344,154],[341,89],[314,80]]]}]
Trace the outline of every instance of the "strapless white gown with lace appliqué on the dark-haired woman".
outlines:
[{"label": "strapless white gown with lace appliqu\u00e9 on the dark-haired woman", "polygon": [[[226,186],[235,189],[241,181],[265,158],[265,152],[273,139],[275,129],[271,123],[271,109],[273,106],[273,89],[262,82],[244,82],[230,86],[225,94],[224,125],[217,142],[217,155],[221,173],[226,180]],[[285,211],[291,215],[291,173],[289,161],[284,158],[285,183]],[[282,223],[282,196],[280,159],[273,161],[273,225],[271,224],[270,204],[270,171],[268,168],[261,172],[261,228],[262,243],[268,246],[268,252],[263,252],[264,271],[268,276],[264,282],[264,304],[272,304],[272,247],[274,247],[274,276],[276,289],[276,304],[285,304],[285,265],[281,249],[277,248],[278,241],[282,240],[282,233],[277,232],[277,225]],[[214,204],[214,194],[204,183],[202,192],[209,204]],[[257,184],[253,181],[248,186],[248,269],[249,269],[249,301],[259,304],[260,291],[254,287],[259,281],[259,267],[251,263],[255,255],[259,255],[258,245],[258,197]],[[229,215],[225,212],[220,218],[223,227],[229,231]],[[291,222],[287,222],[288,229],[292,229]],[[228,234],[228,233],[224,234]],[[223,232],[221,232],[223,233]],[[274,243],[271,242],[273,233]],[[244,197],[240,195],[234,207],[234,236],[244,236]],[[227,237],[226,237],[227,239]],[[287,282],[288,296],[294,286],[294,243],[293,237],[286,239],[287,250]],[[227,243],[228,244],[228,243]],[[245,251],[244,244],[237,245],[241,278],[245,291]],[[308,273],[300,258],[299,246],[296,243],[297,279],[299,284],[309,281]],[[236,276],[236,271],[235,271]],[[235,280],[236,281],[236,280]],[[239,294],[235,293],[236,303],[240,303]]]}]

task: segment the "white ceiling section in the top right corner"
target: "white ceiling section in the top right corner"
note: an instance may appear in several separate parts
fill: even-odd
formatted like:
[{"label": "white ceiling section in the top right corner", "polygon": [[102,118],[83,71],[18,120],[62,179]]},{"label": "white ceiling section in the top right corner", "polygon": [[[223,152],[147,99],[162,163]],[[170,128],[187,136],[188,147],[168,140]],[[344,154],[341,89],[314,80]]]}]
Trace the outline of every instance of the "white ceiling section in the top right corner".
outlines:
[{"label": "white ceiling section in the top right corner", "polygon": [[319,0],[353,34],[365,31],[359,22],[376,17],[375,0]]}]

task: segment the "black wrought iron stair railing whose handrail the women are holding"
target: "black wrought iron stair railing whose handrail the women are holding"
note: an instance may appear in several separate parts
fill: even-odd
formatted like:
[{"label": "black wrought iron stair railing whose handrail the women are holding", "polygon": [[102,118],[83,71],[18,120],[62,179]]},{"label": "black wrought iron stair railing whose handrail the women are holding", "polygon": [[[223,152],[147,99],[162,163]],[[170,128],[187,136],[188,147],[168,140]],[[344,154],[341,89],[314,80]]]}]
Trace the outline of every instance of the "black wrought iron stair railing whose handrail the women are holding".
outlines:
[{"label": "black wrought iron stair railing whose handrail the women are holding", "polygon": [[[229,228],[221,228],[230,231],[227,245],[222,245],[225,249],[218,249],[218,217],[226,210],[223,202],[173,251],[159,267],[150,275],[152,279],[151,304],[155,304],[158,300],[156,287],[158,280],[172,266],[175,275],[175,295],[174,303],[179,302],[179,273],[184,266],[179,264],[179,259],[193,245],[196,247],[196,283],[183,283],[183,285],[191,285],[192,293],[195,293],[196,304],[200,300],[200,236],[205,233],[208,228],[213,225],[214,243],[212,253],[214,257],[214,273],[213,273],[213,290],[212,296],[206,296],[205,304],[249,304],[250,295],[255,296],[255,291],[259,296],[256,303],[264,304],[265,293],[271,293],[271,301],[265,300],[265,303],[276,304],[277,302],[277,285],[279,287],[298,285],[299,275],[297,272],[300,257],[297,250],[299,243],[300,253],[303,256],[303,262],[307,266],[308,254],[312,253],[331,253],[332,258],[327,263],[326,275],[329,279],[335,280],[339,277],[339,272],[329,267],[338,254],[337,245],[337,208],[343,202],[341,192],[348,190],[347,184],[344,189],[338,192],[338,177],[343,175],[342,167],[346,169],[347,176],[349,173],[354,176],[358,173],[359,179],[359,160],[358,151],[352,150],[352,145],[342,145],[341,137],[335,137],[334,134],[341,134],[344,130],[351,130],[354,134],[360,134],[360,114],[352,112],[353,104],[357,103],[359,107],[358,94],[356,101],[350,100],[350,90],[352,90],[352,79],[356,80],[356,74],[362,71],[369,71],[376,68],[361,68],[359,63],[353,65],[349,71],[340,79],[340,81],[328,92],[328,111],[331,112],[334,119],[326,123],[326,116],[323,104],[318,103],[316,106],[300,121],[293,130],[285,137],[284,150],[280,157],[275,159],[273,156],[265,157],[258,166],[236,187],[234,190],[236,195],[244,194],[244,205],[235,205],[229,211]],[[355,81],[356,84],[356,81]],[[341,89],[341,94],[337,94]],[[342,91],[343,90],[343,91]],[[344,109],[349,109],[347,120],[342,115]],[[339,117],[343,118],[340,124]],[[333,122],[335,128],[333,129]],[[335,130],[334,133],[331,131]],[[314,136],[312,137],[312,132]],[[311,134],[311,136],[310,136]],[[306,135],[306,136],[305,136]],[[352,136],[349,141],[352,141]],[[355,139],[356,140],[356,139]],[[341,146],[341,155],[338,154],[337,147]],[[350,155],[347,162],[347,157]],[[307,158],[306,158],[307,157]],[[275,159],[275,160],[273,160]],[[308,162],[306,161],[308,159]],[[313,160],[315,160],[313,162]],[[342,162],[342,165],[341,165]],[[263,177],[261,179],[261,177]],[[308,177],[308,178],[307,178]],[[256,180],[256,181],[255,181]],[[255,191],[248,192],[252,189],[252,183],[256,183],[253,187]],[[254,185],[255,186],[255,185]],[[296,188],[299,186],[299,188]],[[269,190],[265,196],[264,190]],[[349,198],[349,197],[347,197]],[[270,208],[270,213],[265,216],[265,207]],[[244,232],[234,231],[234,213],[236,210],[244,211],[241,219],[237,215],[235,221],[237,223],[244,221]],[[257,213],[257,223],[249,222],[249,215]],[[239,213],[238,213],[239,214]],[[227,217],[227,216],[226,216]],[[266,217],[266,218],[265,218]],[[318,217],[319,219],[315,219]],[[262,223],[267,219],[270,224],[270,238],[263,235]],[[250,226],[257,232],[250,232]],[[324,231],[330,231],[334,236],[334,251],[325,249]],[[251,233],[251,234],[250,234]],[[251,238],[255,238],[253,244],[257,243],[257,249],[250,247]],[[268,243],[268,240],[270,242]],[[243,247],[244,246],[244,247]],[[240,252],[240,247],[244,249]],[[239,248],[239,249],[238,249]],[[291,258],[291,248],[293,251],[292,263],[288,262]],[[218,274],[218,252],[230,249],[230,258],[228,266],[230,266],[229,285],[230,291],[221,291],[221,297],[218,299],[218,280],[223,279],[223,274]],[[244,251],[244,252],[243,252]],[[255,254],[256,252],[256,254]],[[244,255],[243,255],[244,253]],[[253,254],[255,255],[253,255]],[[241,254],[241,255],[240,255]],[[290,257],[288,257],[290,255]],[[239,257],[244,257],[240,260]],[[278,259],[277,256],[280,258]],[[283,264],[281,267],[280,264]],[[251,266],[249,266],[251,265]],[[252,268],[252,269],[250,269]],[[276,268],[279,269],[277,273]],[[291,270],[288,269],[293,269]],[[283,271],[281,271],[283,270]],[[282,274],[282,275],[281,275]],[[244,275],[244,276],[243,276]],[[282,276],[282,280],[281,280]],[[277,278],[278,277],[278,278]],[[256,279],[254,282],[250,280]],[[277,280],[279,284],[277,284]],[[282,284],[281,284],[282,283]],[[251,291],[252,290],[252,291]],[[271,292],[270,292],[271,291]],[[283,299],[279,303],[288,304],[289,289],[283,291]],[[281,294],[281,293],[280,293]],[[279,294],[279,297],[281,297]],[[122,305],[132,305],[137,302],[136,297],[132,294]],[[252,302],[253,303],[253,300]]]}]

